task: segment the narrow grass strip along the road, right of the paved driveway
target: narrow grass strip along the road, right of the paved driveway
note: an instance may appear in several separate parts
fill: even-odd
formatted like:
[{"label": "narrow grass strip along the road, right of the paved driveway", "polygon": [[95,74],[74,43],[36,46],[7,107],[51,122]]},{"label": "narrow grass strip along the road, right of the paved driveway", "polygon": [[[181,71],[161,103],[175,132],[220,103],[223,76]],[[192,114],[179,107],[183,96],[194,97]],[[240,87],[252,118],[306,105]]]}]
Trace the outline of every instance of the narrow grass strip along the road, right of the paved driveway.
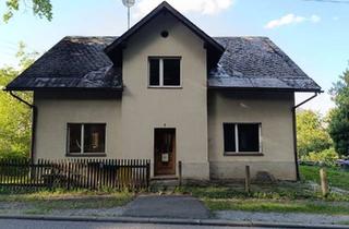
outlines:
[{"label": "narrow grass strip along the road, right of the paved driveway", "polygon": [[270,200],[203,200],[210,210],[246,210],[276,213],[312,213],[348,215],[349,204],[333,204],[312,201],[270,201]]}]

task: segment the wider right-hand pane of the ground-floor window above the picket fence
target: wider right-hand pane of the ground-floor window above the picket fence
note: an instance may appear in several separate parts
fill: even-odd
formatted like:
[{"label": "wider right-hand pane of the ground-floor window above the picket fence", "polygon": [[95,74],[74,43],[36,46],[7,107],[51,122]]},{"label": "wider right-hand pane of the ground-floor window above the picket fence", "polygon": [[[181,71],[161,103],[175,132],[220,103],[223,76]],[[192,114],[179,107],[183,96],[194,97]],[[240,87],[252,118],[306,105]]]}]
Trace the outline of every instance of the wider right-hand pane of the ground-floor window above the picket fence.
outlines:
[{"label": "wider right-hand pane of the ground-floor window above the picket fence", "polygon": [[106,124],[84,125],[84,153],[105,153]]}]

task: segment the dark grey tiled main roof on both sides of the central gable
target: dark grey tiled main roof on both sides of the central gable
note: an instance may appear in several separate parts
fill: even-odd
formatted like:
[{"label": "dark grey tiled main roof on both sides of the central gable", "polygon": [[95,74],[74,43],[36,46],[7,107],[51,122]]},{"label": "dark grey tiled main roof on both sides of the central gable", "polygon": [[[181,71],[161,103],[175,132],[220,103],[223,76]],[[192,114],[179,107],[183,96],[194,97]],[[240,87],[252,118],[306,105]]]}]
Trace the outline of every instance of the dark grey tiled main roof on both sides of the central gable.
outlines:
[{"label": "dark grey tiled main roof on both sides of the central gable", "polygon": [[[7,89],[122,89],[121,69],[104,52],[117,37],[65,37],[12,81]],[[212,88],[321,91],[266,37],[214,37],[226,50],[208,73]]]}]

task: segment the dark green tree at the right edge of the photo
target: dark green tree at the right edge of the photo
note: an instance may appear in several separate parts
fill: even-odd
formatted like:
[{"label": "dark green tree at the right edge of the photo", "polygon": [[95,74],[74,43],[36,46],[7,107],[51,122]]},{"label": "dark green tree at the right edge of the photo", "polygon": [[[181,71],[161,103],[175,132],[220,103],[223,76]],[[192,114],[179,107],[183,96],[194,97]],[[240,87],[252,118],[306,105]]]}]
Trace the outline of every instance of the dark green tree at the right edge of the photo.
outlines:
[{"label": "dark green tree at the right edge of the photo", "polygon": [[349,156],[349,69],[329,91],[336,108],[330,112],[329,135],[339,155]]}]

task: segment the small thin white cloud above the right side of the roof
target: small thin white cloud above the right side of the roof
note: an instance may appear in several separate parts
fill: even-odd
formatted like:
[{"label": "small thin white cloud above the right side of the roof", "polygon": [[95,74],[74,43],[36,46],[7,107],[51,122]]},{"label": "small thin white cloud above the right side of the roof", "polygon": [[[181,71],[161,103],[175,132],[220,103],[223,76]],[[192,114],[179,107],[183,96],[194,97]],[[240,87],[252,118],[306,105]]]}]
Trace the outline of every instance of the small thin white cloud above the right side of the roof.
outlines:
[{"label": "small thin white cloud above the right side of the roof", "polygon": [[276,27],[290,25],[290,24],[299,24],[303,22],[317,23],[320,21],[321,21],[321,17],[318,15],[311,15],[310,17],[304,17],[304,16],[298,16],[292,13],[289,13],[285,16],[281,16],[280,19],[272,20],[264,27],[276,28]]}]

